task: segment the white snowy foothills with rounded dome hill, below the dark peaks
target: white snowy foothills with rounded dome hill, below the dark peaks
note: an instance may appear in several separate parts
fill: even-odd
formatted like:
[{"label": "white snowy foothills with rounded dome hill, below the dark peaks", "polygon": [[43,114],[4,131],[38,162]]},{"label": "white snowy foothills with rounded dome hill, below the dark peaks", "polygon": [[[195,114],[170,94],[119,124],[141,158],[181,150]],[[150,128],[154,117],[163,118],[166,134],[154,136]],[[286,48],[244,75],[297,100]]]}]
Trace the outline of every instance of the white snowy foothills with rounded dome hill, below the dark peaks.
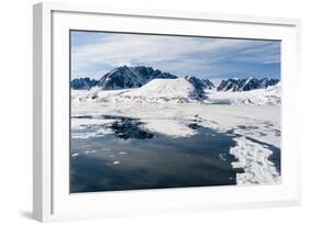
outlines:
[{"label": "white snowy foothills with rounded dome hill, below the dark peaks", "polygon": [[282,83],[266,89],[251,91],[206,90],[200,95],[185,78],[153,79],[141,88],[122,90],[102,90],[93,87],[90,90],[74,90],[71,101],[96,101],[102,103],[207,103],[207,104],[246,104],[279,105],[282,103]]}]

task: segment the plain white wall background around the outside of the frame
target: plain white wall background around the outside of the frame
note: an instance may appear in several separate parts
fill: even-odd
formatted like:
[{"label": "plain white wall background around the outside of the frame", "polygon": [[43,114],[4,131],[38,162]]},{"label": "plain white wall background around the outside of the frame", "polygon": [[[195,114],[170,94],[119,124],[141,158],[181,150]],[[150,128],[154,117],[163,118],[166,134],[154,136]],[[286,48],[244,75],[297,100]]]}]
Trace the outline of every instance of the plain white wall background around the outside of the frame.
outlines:
[{"label": "plain white wall background around the outside of the frame", "polygon": [[[1,1],[0,7],[0,224],[34,224],[32,211],[32,4],[33,0]],[[86,2],[90,2],[87,0]],[[304,0],[101,0],[111,7],[206,11],[299,18],[302,22],[304,204],[295,207],[161,215],[74,224],[308,224],[309,222],[309,7]],[[290,119],[293,120],[293,119]],[[219,196],[220,198],[220,196]]]}]

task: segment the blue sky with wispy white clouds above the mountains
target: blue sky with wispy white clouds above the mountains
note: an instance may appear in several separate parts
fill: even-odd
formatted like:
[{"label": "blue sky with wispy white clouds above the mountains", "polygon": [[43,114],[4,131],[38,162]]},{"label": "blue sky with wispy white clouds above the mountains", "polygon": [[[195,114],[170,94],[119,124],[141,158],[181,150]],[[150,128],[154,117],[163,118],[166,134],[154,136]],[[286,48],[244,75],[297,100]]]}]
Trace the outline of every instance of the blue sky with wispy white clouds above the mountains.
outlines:
[{"label": "blue sky with wispy white clouds above the mountains", "polygon": [[71,79],[101,78],[119,66],[178,77],[280,79],[280,42],[107,32],[70,32]]}]

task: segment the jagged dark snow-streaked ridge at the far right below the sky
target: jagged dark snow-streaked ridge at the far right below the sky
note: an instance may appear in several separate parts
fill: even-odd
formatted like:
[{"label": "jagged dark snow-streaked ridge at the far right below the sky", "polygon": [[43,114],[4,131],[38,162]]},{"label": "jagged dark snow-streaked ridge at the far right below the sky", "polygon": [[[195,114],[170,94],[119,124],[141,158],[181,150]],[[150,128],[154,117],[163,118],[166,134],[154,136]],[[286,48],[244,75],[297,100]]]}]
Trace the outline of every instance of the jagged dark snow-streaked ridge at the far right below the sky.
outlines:
[{"label": "jagged dark snow-streaked ridge at the far right below the sky", "polygon": [[250,91],[255,89],[265,89],[269,86],[275,86],[279,82],[278,79],[256,79],[249,77],[246,79],[232,78],[222,80],[218,87],[218,91]]}]

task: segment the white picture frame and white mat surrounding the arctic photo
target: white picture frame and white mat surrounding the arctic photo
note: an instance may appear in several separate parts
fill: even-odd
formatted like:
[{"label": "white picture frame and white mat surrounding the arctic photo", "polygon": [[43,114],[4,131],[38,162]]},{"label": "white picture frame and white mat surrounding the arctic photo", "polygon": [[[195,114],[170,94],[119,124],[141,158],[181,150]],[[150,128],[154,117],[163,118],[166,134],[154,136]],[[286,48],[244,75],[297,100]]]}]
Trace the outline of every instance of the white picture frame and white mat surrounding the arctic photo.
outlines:
[{"label": "white picture frame and white mat surrounding the arctic photo", "polygon": [[[299,20],[51,2],[35,4],[33,12],[34,220],[45,222],[300,204],[298,124],[289,120],[298,114],[298,103],[294,100],[298,94],[296,77],[300,77]],[[102,20],[107,21],[104,27],[101,27]],[[123,21],[129,21],[125,26],[121,25]],[[136,23],[139,26],[134,26]],[[198,29],[214,26],[211,33]],[[68,154],[62,147],[68,143],[64,132],[67,131],[68,119],[65,116],[68,112],[62,110],[69,98],[68,57],[64,55],[68,54],[68,36],[65,35],[69,29],[282,40],[283,183],[69,194],[66,183]]]}]

